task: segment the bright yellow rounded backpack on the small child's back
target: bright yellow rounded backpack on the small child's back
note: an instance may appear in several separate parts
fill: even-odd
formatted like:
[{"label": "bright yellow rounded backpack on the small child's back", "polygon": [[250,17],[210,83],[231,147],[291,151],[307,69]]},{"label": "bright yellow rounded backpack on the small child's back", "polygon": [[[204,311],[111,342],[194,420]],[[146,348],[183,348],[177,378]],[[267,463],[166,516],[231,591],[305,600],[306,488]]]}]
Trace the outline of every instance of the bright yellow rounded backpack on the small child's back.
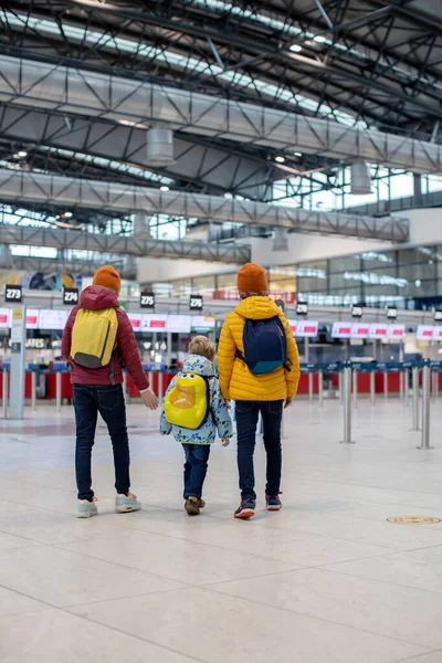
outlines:
[{"label": "bright yellow rounded backpack on the small child's back", "polygon": [[180,373],[166,396],[166,421],[179,428],[196,431],[201,428],[210,412],[209,380],[197,373]]}]

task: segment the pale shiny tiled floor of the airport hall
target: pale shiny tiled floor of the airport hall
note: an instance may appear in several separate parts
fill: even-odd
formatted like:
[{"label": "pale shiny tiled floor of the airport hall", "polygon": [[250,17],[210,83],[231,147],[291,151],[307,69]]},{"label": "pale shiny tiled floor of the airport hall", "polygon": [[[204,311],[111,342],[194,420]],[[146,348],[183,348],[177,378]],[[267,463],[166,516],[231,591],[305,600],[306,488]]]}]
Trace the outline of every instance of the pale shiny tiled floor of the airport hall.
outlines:
[{"label": "pale shiny tiled floor of the airport hall", "polygon": [[203,515],[181,501],[181,449],[129,407],[137,514],[113,512],[99,424],[99,516],[77,520],[72,410],[0,419],[1,663],[442,663],[442,399],[432,451],[398,400],[287,412],[284,508],[236,522],[235,445],[218,443]]}]

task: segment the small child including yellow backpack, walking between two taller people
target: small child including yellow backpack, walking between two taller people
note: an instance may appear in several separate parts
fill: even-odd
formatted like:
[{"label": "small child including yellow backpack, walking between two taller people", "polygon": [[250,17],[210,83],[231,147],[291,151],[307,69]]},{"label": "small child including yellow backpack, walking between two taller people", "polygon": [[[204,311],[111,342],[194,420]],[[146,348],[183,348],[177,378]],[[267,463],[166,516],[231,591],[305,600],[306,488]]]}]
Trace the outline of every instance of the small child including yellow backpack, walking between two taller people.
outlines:
[{"label": "small child including yellow backpack, walking between two taller people", "polygon": [[228,446],[233,436],[229,410],[221,396],[213,360],[214,345],[206,336],[189,344],[182,370],[170,382],[161,410],[161,435],[173,434],[185,450],[185,508],[198,515],[206,505],[201,498],[210,445],[218,434]]}]

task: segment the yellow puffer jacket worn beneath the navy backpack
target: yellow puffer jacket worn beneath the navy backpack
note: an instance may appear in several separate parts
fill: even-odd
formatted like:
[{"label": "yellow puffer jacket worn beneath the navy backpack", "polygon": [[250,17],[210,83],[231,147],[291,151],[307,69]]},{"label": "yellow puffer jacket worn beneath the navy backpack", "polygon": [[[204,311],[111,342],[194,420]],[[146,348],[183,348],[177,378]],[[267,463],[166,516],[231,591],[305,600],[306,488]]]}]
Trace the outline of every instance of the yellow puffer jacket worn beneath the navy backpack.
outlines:
[{"label": "yellow puffer jacket worn beneath the navy backpack", "polygon": [[[278,315],[287,337],[287,357],[292,370],[283,367],[264,376],[253,375],[241,359],[236,349],[244,354],[242,340],[245,318],[264,320]],[[221,393],[227,400],[273,401],[293,398],[299,381],[299,357],[296,341],[285,315],[269,297],[248,297],[225,316],[218,348],[218,370]]]}]

